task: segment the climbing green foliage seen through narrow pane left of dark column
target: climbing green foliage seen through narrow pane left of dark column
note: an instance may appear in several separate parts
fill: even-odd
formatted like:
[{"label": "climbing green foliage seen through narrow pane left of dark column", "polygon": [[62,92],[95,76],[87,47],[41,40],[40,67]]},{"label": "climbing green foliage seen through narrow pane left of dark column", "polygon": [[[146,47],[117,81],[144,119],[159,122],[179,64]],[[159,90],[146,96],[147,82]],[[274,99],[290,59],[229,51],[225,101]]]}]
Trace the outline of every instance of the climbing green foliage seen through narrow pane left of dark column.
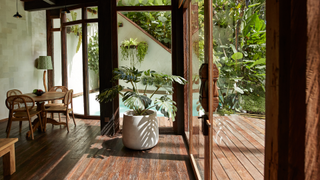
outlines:
[{"label": "climbing green foliage seen through narrow pane left of dark column", "polygon": [[99,37],[98,33],[90,37],[88,43],[88,66],[99,74]]}]

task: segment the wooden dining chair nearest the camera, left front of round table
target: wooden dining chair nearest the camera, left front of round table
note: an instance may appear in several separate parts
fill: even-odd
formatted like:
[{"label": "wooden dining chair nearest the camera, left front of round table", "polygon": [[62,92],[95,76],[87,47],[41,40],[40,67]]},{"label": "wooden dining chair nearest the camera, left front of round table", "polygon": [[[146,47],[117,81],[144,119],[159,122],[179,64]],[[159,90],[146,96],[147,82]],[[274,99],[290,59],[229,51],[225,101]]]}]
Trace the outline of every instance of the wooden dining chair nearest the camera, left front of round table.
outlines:
[{"label": "wooden dining chair nearest the camera, left front of round table", "polygon": [[[30,96],[26,95],[14,95],[9,96],[6,99],[6,106],[9,109],[9,120],[8,120],[8,132],[7,132],[7,138],[10,135],[11,130],[11,124],[12,121],[29,121],[29,128],[31,131],[32,139],[33,137],[33,131],[32,131],[32,124],[31,124],[31,118],[33,116],[38,115],[41,129],[42,129],[42,122],[41,122],[41,111],[37,111],[34,109],[35,102]],[[21,126],[19,132],[21,133]]]}]

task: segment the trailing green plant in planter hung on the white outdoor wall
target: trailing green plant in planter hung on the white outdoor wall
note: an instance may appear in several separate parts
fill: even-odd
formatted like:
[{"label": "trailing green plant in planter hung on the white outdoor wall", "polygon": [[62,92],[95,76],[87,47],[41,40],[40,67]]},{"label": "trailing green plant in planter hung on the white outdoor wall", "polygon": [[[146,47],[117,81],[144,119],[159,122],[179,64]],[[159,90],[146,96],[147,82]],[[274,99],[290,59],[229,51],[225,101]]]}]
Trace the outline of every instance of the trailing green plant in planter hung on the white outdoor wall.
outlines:
[{"label": "trailing green plant in planter hung on the white outdoor wall", "polygon": [[145,41],[137,42],[136,39],[130,38],[123,40],[120,45],[121,60],[129,60],[130,66],[133,67],[144,60],[148,51],[148,44]]}]

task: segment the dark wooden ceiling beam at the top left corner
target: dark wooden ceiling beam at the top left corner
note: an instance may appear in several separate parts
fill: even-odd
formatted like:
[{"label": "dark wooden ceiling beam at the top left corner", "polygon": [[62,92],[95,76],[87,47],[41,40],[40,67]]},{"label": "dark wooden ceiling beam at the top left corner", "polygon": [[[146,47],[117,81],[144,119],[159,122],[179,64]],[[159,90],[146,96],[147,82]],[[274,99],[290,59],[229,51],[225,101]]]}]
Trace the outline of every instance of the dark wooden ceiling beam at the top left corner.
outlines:
[{"label": "dark wooden ceiling beam at the top left corner", "polygon": [[[46,2],[45,2],[46,1]],[[47,1],[55,2],[51,5]],[[43,0],[43,1],[25,1],[25,11],[39,11],[39,10],[51,10],[64,7],[75,6],[79,4],[95,3],[98,0]]]}]

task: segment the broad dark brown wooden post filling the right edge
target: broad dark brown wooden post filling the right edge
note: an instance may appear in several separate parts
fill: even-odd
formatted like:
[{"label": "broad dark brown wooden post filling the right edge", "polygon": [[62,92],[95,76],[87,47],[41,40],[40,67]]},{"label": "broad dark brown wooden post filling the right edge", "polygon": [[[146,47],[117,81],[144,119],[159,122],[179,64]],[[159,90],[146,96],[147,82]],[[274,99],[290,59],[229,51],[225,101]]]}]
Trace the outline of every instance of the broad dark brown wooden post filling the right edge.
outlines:
[{"label": "broad dark brown wooden post filling the right edge", "polygon": [[319,11],[267,1],[265,179],[320,179]]}]

